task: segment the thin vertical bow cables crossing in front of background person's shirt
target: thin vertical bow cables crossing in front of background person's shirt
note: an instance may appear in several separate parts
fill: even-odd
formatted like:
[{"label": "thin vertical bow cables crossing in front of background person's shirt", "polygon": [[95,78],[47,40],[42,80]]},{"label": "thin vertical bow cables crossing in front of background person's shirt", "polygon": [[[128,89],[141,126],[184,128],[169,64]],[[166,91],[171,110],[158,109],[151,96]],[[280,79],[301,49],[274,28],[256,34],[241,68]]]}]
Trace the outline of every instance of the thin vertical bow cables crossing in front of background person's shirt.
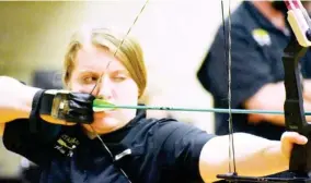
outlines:
[{"label": "thin vertical bow cables crossing in front of background person's shirt", "polygon": [[[233,173],[237,173],[235,167],[235,154],[234,154],[234,139],[233,139],[233,125],[232,125],[232,112],[231,112],[231,1],[228,0],[228,36],[226,32],[226,17],[224,17],[224,4],[221,0],[221,17],[222,17],[222,30],[224,41],[224,57],[228,61],[228,108],[229,108],[229,172],[232,172],[231,163],[233,163]],[[228,41],[227,41],[228,37]],[[232,162],[231,162],[232,161]]]}]

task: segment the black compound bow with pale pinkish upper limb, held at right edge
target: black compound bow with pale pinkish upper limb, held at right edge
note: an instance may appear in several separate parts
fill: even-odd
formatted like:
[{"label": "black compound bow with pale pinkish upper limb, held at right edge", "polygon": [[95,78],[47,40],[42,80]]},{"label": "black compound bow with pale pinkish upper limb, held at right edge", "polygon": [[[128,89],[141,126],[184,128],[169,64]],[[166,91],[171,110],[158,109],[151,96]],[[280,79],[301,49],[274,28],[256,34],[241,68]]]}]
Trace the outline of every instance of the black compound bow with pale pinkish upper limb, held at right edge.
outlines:
[{"label": "black compound bow with pale pinkish upper limb, held at right edge", "polygon": [[[300,59],[311,46],[311,21],[300,0],[285,0],[287,20],[295,36],[284,49],[286,100],[284,103],[287,131],[295,131],[311,139],[311,123],[306,121],[303,110]],[[219,174],[219,179],[233,182],[301,182],[311,183],[311,141],[292,149],[286,178],[240,176],[235,172]]]}]

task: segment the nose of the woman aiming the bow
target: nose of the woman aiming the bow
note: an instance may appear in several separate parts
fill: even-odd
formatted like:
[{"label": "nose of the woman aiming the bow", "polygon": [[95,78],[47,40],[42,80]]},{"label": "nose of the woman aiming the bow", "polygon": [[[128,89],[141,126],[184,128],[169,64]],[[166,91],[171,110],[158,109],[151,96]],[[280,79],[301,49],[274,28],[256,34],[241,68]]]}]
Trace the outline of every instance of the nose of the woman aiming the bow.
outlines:
[{"label": "nose of the woman aiming the bow", "polygon": [[96,87],[96,96],[99,98],[103,98],[105,100],[111,100],[113,98],[113,88],[112,82],[108,77],[103,76],[102,80],[99,82]]}]

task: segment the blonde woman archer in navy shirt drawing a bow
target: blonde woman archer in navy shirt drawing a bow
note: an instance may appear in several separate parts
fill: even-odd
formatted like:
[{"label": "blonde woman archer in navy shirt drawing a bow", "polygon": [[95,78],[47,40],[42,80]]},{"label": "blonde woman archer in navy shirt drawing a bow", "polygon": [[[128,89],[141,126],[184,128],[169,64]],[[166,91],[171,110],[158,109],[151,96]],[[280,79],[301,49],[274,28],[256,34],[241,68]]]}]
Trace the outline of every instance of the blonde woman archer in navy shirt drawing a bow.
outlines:
[{"label": "blonde woman archer in navy shirt drawing a bow", "polygon": [[[103,28],[78,32],[65,57],[66,90],[1,76],[4,146],[38,164],[42,183],[217,181],[229,171],[228,136],[174,119],[148,119],[145,110],[93,108],[99,99],[136,106],[143,94],[142,50],[133,38],[122,40]],[[287,170],[292,145],[307,143],[292,132],[280,142],[233,136],[241,175]]]}]

